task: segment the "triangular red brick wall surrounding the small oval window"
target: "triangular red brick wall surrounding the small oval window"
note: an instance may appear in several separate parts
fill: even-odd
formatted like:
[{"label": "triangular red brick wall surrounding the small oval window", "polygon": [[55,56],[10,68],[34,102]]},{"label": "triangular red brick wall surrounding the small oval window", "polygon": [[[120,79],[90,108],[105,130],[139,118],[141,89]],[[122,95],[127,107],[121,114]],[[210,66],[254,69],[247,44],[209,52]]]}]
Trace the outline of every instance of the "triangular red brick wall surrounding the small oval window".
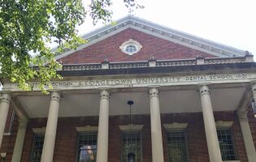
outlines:
[{"label": "triangular red brick wall surrounding the small oval window", "polygon": [[[123,53],[119,49],[119,46],[129,39],[137,40],[142,45],[141,51],[132,56]],[[136,62],[148,61],[152,57],[158,60],[167,60],[196,58],[197,56],[216,58],[209,53],[203,53],[196,49],[128,28],[85,49],[67,55],[67,57],[59,59],[59,62],[63,64],[99,63],[103,62],[105,58],[109,62]]]}]

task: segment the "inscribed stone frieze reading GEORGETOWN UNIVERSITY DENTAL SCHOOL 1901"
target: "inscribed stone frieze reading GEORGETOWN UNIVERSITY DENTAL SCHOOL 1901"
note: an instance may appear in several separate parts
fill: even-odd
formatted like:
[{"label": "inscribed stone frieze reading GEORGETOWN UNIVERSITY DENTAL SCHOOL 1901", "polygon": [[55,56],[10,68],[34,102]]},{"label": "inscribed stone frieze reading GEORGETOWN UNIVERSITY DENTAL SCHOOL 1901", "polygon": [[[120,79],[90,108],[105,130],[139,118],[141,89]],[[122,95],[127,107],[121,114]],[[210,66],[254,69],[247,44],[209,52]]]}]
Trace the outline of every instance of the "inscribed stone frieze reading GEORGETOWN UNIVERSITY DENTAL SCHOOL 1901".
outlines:
[{"label": "inscribed stone frieze reading GEORGETOWN UNIVERSITY DENTAL SCHOOL 1901", "polygon": [[[149,86],[171,86],[192,85],[199,83],[242,83],[256,79],[254,73],[237,74],[215,74],[215,75],[171,75],[171,76],[134,76],[131,78],[100,78],[89,77],[80,80],[54,81],[55,89],[95,89],[104,87],[149,87]],[[33,89],[38,89],[38,83],[33,83]],[[15,83],[6,83],[4,90],[17,91]]]}]

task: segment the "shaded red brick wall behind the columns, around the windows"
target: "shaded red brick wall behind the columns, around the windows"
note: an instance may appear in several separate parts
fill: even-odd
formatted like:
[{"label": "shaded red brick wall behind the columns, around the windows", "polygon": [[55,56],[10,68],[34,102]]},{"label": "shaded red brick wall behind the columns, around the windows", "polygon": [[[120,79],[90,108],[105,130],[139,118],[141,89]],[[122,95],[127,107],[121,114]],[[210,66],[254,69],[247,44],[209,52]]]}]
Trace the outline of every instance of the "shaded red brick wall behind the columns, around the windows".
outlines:
[{"label": "shaded red brick wall behind the columns, around the windows", "polygon": [[[232,132],[236,145],[238,160],[247,162],[245,145],[242,139],[241,127],[235,112],[215,112],[215,121],[233,121]],[[171,113],[161,115],[162,124],[171,122],[189,123],[186,134],[188,138],[188,150],[190,162],[209,161],[206,134],[204,130],[202,113]],[[249,114],[249,121],[256,146],[256,119]],[[121,130],[120,125],[129,123],[128,116],[110,117],[109,130],[109,159],[110,162],[119,162],[121,155]],[[151,162],[151,137],[150,115],[134,115],[132,124],[144,125],[142,134],[143,162]],[[98,117],[59,117],[57,136],[54,148],[54,162],[75,162],[76,160],[76,126],[98,126]],[[46,118],[32,119],[28,123],[24,140],[24,151],[21,162],[28,162],[33,146],[33,128],[46,126]],[[7,152],[7,162],[11,162],[12,151],[15,144],[15,136],[18,129],[18,121],[15,119],[10,136],[4,136],[1,152]],[[164,160],[167,162],[167,134],[163,128]]]}]

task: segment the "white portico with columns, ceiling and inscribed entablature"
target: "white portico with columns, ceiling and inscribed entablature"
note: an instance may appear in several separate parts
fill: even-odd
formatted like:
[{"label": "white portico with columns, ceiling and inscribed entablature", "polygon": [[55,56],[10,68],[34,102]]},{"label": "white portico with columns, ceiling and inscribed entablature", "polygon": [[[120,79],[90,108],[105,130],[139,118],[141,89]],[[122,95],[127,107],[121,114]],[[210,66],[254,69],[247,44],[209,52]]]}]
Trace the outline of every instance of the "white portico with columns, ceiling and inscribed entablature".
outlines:
[{"label": "white portico with columns, ceiling and inscribed entablature", "polygon": [[[22,92],[14,83],[6,83],[0,104],[2,123],[7,116],[10,97],[20,103],[18,111],[28,118],[47,117],[45,142],[41,161],[53,161],[54,141],[59,117],[99,117],[98,120],[98,162],[106,162],[108,155],[109,117],[128,115],[126,101],[135,102],[133,115],[150,114],[152,159],[163,159],[163,123],[161,114],[202,112],[210,162],[222,161],[215,126],[215,112],[237,111],[249,162],[256,155],[249,130],[244,120],[247,104],[254,92],[256,75],[251,71],[232,70],[208,73],[202,71],[188,74],[156,74],[96,77],[67,77],[53,82],[50,96],[36,91]],[[37,85],[35,82],[34,85]],[[252,91],[248,91],[248,89]],[[245,101],[244,101],[245,100]],[[40,104],[38,104],[40,103]],[[247,103],[247,104],[246,104]],[[49,105],[49,109],[47,109]],[[244,113],[243,113],[244,112]],[[240,115],[241,113],[244,116]],[[22,123],[22,122],[20,122]],[[1,125],[0,130],[4,125]],[[23,125],[21,125],[23,126]],[[16,143],[24,140],[24,133],[17,136]],[[2,134],[1,137],[2,138]],[[23,143],[22,143],[23,144]],[[21,154],[22,147],[14,155]],[[20,156],[19,156],[20,157]]]}]

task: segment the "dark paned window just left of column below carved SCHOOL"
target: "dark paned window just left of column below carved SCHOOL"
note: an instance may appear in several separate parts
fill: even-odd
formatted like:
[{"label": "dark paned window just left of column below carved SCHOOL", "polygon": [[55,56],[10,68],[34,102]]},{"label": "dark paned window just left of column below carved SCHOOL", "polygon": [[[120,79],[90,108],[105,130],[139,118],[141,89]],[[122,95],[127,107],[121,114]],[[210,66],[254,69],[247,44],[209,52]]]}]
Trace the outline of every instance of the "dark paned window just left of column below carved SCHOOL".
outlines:
[{"label": "dark paned window just left of column below carved SCHOOL", "polygon": [[44,145],[44,134],[34,134],[33,139],[33,148],[31,153],[31,162],[40,162],[41,161],[41,151]]}]

